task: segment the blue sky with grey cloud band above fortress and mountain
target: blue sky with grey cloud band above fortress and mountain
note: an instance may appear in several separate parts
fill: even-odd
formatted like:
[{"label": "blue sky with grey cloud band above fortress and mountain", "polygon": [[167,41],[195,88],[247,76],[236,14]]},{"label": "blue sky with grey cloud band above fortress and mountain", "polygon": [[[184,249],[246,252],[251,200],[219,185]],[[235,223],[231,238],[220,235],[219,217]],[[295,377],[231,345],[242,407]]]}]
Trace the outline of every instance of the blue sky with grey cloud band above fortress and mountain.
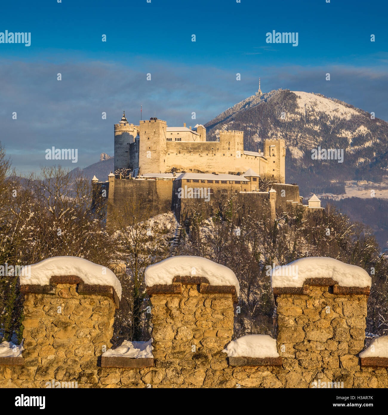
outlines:
[{"label": "blue sky with grey cloud band above fortress and mountain", "polygon": [[[206,123],[252,95],[259,76],[263,91],[322,93],[388,120],[387,9],[361,0],[7,2],[0,32],[31,32],[31,46],[0,44],[0,141],[22,172],[46,164],[51,146],[78,148],[68,166],[84,167],[113,154],[123,109],[134,123],[140,105],[143,118],[171,126]],[[298,32],[298,46],[267,44],[273,30]]]}]

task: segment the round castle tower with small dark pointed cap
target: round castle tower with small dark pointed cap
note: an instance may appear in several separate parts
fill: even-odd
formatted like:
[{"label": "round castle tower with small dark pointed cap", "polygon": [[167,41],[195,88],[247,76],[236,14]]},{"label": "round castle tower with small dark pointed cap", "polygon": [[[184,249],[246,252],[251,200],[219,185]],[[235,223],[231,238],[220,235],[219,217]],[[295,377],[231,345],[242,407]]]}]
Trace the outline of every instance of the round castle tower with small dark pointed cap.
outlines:
[{"label": "round castle tower with small dark pointed cap", "polygon": [[115,168],[132,168],[130,166],[129,144],[134,142],[137,136],[137,128],[129,124],[123,112],[121,121],[115,124]]}]

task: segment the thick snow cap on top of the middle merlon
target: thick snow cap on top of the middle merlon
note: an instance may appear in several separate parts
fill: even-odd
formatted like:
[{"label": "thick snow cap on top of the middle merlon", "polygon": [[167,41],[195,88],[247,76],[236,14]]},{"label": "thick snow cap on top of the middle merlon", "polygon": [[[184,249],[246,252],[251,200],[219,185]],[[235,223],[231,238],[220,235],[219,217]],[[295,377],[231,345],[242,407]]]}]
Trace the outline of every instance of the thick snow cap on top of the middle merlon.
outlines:
[{"label": "thick snow cap on top of the middle merlon", "polygon": [[175,276],[205,277],[213,286],[234,286],[239,295],[240,285],[234,272],[202,256],[171,256],[157,264],[150,265],[145,271],[146,286],[156,284],[171,285]]}]

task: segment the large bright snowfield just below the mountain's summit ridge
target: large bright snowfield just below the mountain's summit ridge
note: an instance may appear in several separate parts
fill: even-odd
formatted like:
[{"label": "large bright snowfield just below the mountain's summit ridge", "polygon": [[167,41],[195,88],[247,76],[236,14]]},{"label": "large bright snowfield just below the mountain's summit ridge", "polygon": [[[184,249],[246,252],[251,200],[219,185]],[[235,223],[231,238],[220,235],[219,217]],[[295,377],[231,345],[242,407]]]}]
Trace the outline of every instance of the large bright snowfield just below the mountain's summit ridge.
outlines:
[{"label": "large bright snowfield just below the mountain's summit ridge", "polygon": [[[297,95],[298,112],[304,114],[305,109],[310,111],[325,112],[329,117],[345,118],[349,120],[359,113],[352,108],[347,108],[342,104],[336,103],[328,98],[320,97],[308,92],[292,91]],[[300,98],[298,97],[300,96]]]}]

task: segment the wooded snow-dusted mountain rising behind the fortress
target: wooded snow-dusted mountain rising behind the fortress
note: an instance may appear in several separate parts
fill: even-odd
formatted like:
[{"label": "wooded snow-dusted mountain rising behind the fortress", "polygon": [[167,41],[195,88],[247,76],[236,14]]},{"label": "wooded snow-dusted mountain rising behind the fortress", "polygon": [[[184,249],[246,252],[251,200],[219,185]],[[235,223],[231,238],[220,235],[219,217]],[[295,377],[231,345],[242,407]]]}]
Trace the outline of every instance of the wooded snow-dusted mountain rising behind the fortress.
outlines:
[{"label": "wooded snow-dusted mountain rising behind the fortress", "polygon": [[[251,96],[208,122],[207,137],[220,129],[244,131],[246,149],[265,138],[286,140],[286,180],[301,194],[342,193],[344,181],[380,182],[388,166],[388,123],[335,98],[290,90]],[[343,163],[312,160],[312,149],[343,149]],[[334,184],[333,184],[334,182]]]}]

